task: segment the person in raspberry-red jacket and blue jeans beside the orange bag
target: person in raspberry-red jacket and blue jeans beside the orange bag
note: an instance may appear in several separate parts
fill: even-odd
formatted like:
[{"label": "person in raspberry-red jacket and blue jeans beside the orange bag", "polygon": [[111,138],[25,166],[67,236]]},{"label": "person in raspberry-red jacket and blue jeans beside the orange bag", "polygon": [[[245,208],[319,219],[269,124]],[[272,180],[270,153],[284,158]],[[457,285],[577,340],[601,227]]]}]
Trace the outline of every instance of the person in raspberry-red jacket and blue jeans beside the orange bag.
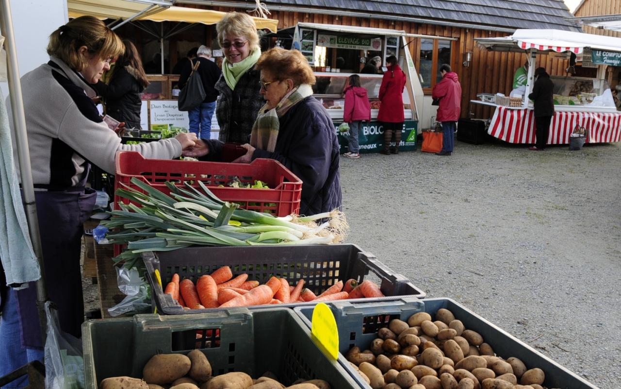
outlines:
[{"label": "person in raspberry-red jacket and blue jeans beside the orange bag", "polygon": [[435,119],[442,123],[442,151],[437,155],[451,155],[453,152],[453,134],[457,129],[457,121],[461,111],[461,85],[457,73],[451,71],[446,63],[440,66],[442,80],[437,83],[431,92],[433,99],[440,99]]}]

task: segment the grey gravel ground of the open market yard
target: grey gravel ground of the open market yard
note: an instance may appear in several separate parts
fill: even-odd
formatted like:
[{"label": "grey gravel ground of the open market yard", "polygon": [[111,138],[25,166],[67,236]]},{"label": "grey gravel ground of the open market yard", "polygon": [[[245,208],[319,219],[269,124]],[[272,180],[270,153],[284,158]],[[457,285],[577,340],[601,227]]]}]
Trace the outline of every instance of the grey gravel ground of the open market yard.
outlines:
[{"label": "grey gravel ground of the open market yard", "polygon": [[347,242],[601,389],[621,383],[620,145],[342,158]]}]

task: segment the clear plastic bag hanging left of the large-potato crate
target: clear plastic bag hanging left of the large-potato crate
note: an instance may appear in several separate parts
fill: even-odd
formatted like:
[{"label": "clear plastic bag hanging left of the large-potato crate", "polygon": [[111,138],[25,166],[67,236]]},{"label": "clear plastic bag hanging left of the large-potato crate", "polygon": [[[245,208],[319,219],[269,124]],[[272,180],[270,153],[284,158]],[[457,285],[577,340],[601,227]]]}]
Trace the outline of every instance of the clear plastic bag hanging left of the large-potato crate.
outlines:
[{"label": "clear plastic bag hanging left of the large-potato crate", "polygon": [[82,341],[61,331],[58,311],[52,302],[45,303],[47,339],[45,341],[45,388],[84,388]]}]

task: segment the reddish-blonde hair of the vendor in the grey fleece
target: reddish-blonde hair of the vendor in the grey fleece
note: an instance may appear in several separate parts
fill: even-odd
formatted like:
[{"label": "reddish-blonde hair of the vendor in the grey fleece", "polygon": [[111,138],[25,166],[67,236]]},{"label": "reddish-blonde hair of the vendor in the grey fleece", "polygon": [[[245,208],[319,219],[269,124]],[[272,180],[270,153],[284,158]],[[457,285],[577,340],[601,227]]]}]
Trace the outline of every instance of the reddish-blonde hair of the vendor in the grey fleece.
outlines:
[{"label": "reddish-blonde hair of the vendor in the grey fleece", "polygon": [[93,16],[80,16],[52,32],[47,53],[60,58],[71,69],[82,71],[87,62],[78,51],[82,46],[99,58],[116,58],[125,52],[119,35],[106,27],[104,22]]}]

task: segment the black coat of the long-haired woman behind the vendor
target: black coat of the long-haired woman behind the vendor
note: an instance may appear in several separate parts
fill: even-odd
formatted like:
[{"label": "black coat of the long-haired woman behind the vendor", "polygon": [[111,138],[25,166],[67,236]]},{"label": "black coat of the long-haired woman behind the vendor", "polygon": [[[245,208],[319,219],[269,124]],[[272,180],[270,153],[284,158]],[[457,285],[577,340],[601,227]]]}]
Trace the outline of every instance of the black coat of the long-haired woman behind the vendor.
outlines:
[{"label": "black coat of the long-haired woman behind the vendor", "polygon": [[140,128],[140,93],[145,88],[138,81],[135,68],[119,65],[116,65],[110,83],[106,85],[99,81],[95,89],[106,102],[106,114],[125,122],[127,128]]}]

